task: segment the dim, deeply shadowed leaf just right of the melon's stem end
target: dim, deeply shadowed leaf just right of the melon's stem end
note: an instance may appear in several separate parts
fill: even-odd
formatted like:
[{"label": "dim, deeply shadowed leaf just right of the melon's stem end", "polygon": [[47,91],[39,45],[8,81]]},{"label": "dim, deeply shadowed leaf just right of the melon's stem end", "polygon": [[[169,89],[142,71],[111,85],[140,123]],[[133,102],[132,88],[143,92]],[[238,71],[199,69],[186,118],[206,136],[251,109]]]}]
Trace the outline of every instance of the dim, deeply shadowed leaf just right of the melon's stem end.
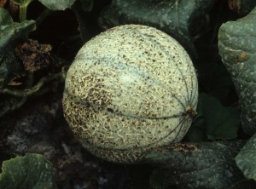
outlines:
[{"label": "dim, deeply shadowed leaf just right of the melon's stem end", "polygon": [[236,139],[240,123],[238,108],[224,107],[218,99],[201,93],[187,137],[190,141]]}]

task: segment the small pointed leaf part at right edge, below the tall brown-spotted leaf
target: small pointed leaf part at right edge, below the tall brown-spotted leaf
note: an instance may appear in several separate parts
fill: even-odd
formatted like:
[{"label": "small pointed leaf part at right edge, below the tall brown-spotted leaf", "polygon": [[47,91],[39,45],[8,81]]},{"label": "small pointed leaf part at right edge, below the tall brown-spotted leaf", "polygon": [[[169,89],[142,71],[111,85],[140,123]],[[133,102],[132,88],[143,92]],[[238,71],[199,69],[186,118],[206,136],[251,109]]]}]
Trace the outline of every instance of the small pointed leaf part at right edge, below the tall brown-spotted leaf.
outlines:
[{"label": "small pointed leaf part at right edge, below the tall brown-spotted leaf", "polygon": [[247,141],[247,144],[236,156],[236,164],[247,179],[256,180],[256,134]]}]

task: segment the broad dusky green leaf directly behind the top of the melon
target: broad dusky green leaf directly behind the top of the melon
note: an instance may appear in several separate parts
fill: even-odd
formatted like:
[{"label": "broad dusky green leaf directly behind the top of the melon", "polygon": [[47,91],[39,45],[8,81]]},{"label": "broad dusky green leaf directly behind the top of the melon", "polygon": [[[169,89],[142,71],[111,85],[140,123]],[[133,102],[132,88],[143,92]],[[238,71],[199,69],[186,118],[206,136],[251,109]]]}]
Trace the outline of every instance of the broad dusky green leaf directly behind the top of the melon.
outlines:
[{"label": "broad dusky green leaf directly behind the top of the melon", "polygon": [[191,33],[201,28],[201,19],[213,3],[214,0],[113,0],[111,6],[102,12],[99,24],[102,27],[124,24],[154,26],[174,37],[195,57]]}]

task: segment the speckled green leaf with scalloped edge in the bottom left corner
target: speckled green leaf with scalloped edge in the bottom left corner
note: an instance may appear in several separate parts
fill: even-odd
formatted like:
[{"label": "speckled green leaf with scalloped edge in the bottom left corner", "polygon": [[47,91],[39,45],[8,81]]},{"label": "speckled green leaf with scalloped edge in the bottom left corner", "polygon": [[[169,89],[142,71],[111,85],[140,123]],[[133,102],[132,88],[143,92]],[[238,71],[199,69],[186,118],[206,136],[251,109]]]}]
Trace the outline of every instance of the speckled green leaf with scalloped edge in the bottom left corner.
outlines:
[{"label": "speckled green leaf with scalloped edge in the bottom left corner", "polygon": [[3,162],[0,186],[5,189],[55,188],[55,169],[44,156],[26,154]]}]

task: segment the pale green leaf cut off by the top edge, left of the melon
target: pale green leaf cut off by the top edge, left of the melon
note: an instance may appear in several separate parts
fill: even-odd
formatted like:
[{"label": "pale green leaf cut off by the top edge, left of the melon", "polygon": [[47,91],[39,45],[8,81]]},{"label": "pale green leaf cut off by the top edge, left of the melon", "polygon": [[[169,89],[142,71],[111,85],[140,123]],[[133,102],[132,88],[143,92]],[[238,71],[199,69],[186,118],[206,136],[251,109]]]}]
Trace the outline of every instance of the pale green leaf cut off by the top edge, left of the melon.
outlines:
[{"label": "pale green leaf cut off by the top edge, left of the melon", "polygon": [[45,7],[51,10],[65,10],[71,8],[76,0],[39,0]]}]

